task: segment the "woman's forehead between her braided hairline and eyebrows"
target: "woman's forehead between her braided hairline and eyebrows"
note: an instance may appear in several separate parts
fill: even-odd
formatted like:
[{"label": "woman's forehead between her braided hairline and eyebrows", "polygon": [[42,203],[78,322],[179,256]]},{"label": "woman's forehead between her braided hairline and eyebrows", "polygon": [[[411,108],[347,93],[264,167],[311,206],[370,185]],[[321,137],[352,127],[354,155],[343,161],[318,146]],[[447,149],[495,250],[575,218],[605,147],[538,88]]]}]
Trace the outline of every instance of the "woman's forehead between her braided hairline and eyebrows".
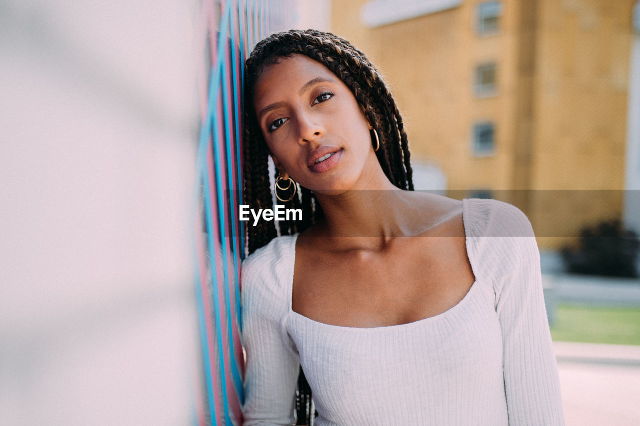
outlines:
[{"label": "woman's forehead between her braided hairline and eyebrows", "polygon": [[329,68],[308,56],[293,54],[280,58],[262,70],[255,84],[253,104],[269,103],[273,97],[287,91],[297,93],[305,83],[317,77],[339,81]]}]

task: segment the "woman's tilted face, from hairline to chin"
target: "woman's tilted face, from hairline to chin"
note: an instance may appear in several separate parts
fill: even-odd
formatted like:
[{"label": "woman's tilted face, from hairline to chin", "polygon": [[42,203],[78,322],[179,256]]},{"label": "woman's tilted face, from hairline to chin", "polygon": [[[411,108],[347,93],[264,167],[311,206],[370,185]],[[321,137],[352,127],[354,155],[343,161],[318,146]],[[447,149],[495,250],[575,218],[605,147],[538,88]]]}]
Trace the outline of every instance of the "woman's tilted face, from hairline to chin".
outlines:
[{"label": "woman's tilted face, from hairline to chin", "polygon": [[358,189],[367,172],[380,168],[355,97],[307,56],[294,54],[265,68],[253,107],[276,166],[303,187],[323,194]]}]

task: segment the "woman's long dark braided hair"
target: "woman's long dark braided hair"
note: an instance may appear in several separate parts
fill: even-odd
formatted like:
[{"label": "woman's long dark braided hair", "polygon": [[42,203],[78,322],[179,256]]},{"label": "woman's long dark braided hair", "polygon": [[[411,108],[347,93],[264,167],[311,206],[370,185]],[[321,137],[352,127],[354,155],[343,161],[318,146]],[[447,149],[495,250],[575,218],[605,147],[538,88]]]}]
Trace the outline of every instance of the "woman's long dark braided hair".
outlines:
[{"label": "woman's long dark braided hair", "polygon": [[[339,36],[323,31],[292,29],[275,33],[255,45],[246,60],[244,81],[244,204],[252,209],[273,209],[269,183],[269,149],[264,141],[253,109],[253,94],[264,68],[278,63],[280,58],[303,54],[315,59],[339,77],[351,90],[364,114],[376,129],[380,149],[376,151],[380,166],[390,182],[400,189],[413,190],[412,168],[402,117],[396,101],[380,72],[361,51]],[[374,142],[372,141],[372,144]],[[276,171],[277,173],[277,171]],[[280,233],[302,232],[321,219],[322,209],[316,197],[301,187],[300,198],[286,201],[287,209],[302,209],[302,221],[280,221]],[[248,252],[265,246],[277,236],[273,221],[260,217],[257,225],[247,226]],[[298,424],[311,424],[310,389],[300,370],[296,411]]]}]

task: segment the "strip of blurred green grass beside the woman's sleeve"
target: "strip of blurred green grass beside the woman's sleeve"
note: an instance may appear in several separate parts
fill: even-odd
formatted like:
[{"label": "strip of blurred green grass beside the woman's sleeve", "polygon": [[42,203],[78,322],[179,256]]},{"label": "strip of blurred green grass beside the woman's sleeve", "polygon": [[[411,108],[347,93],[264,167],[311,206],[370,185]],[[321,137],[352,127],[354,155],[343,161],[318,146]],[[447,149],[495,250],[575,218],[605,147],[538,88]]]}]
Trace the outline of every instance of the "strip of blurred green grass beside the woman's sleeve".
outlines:
[{"label": "strip of blurred green grass beside the woman's sleeve", "polygon": [[600,308],[559,304],[553,340],[640,345],[640,308]]}]

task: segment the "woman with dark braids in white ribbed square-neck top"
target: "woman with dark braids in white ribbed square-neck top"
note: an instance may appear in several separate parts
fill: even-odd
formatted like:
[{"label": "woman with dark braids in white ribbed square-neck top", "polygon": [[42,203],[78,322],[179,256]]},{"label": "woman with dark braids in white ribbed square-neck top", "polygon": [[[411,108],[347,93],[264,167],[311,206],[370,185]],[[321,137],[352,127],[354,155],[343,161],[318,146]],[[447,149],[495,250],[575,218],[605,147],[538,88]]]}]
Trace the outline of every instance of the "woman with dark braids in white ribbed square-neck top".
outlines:
[{"label": "woman with dark braids in white ribbed square-neck top", "polygon": [[411,191],[396,104],[335,35],[262,40],[245,97],[245,203],[273,207],[271,155],[305,220],[247,226],[244,424],[294,422],[300,365],[318,426],[563,424],[527,217]]}]

